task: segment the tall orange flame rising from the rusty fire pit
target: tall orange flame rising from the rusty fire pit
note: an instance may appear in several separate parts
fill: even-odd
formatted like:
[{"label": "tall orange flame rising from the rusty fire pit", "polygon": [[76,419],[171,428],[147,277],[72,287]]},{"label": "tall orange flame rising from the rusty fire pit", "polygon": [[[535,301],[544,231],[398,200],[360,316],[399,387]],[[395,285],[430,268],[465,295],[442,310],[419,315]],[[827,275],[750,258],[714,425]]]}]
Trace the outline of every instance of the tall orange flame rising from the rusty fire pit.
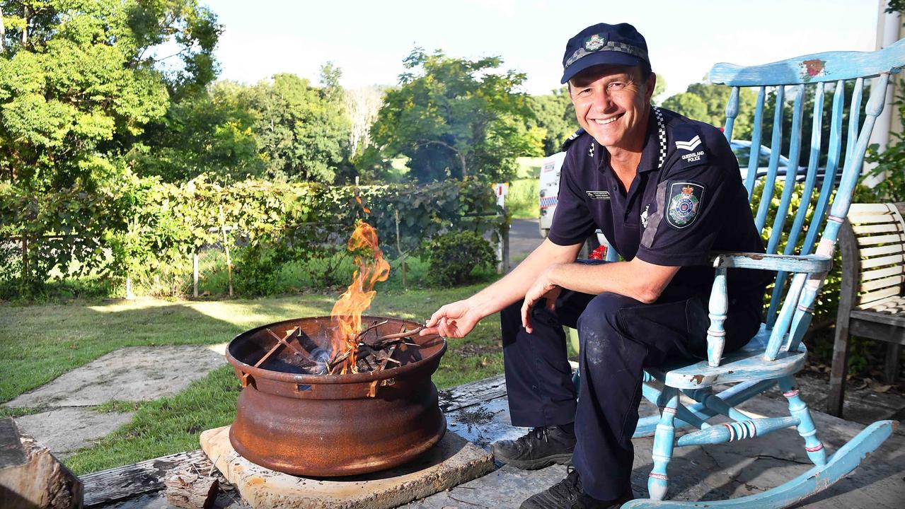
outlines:
[{"label": "tall orange flame rising from the rusty fire pit", "polygon": [[[358,331],[361,330],[361,314],[371,306],[377,292],[374,285],[386,281],[390,274],[390,264],[377,246],[377,231],[367,222],[358,222],[348,240],[347,248],[357,253],[355,264],[358,269],[352,277],[352,284],[339,296],[330,312],[336,327],[333,345],[337,351],[349,351],[342,371],[357,372],[355,353],[358,346]],[[364,254],[373,259],[364,258]]]}]

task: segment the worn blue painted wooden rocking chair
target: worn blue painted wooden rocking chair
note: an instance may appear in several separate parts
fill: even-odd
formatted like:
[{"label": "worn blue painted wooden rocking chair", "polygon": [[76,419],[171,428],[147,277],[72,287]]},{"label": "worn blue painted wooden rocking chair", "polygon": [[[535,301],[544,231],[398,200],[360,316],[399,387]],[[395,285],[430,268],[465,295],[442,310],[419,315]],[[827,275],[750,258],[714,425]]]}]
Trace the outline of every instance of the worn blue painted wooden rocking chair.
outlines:
[{"label": "worn blue painted wooden rocking chair", "polygon": [[[837,235],[852,201],[855,184],[861,176],[864,153],[877,116],[883,108],[891,73],[905,66],[905,40],[877,52],[825,52],[778,61],[756,67],[738,67],[719,63],[710,71],[710,80],[732,87],[726,108],[727,139],[732,139],[732,127],[738,117],[739,89],[757,88],[757,106],[751,146],[761,145],[762,119],[767,92],[772,91],[774,108],[772,140],[767,175],[758,177],[758,157],[751,156],[745,186],[748,199],[756,195],[755,186],[763,183],[757,206],[757,228],[769,232],[767,255],[751,253],[715,253],[711,261],[716,277],[710,296],[710,329],[708,330],[707,362],[675,366],[670,370],[645,372],[643,396],[661,409],[639,421],[634,437],[653,438],[653,470],[648,479],[650,499],[638,499],[623,505],[623,509],[651,507],[707,507],[767,508],[787,507],[834,484],[861,463],[862,458],[878,448],[890,436],[893,421],[874,422],[860,434],[828,455],[814,420],[799,397],[794,375],[805,365],[807,350],[802,338],[811,322],[814,299],[824,285],[824,278],[832,266]],[[872,80],[870,99],[863,108],[865,80]],[[846,81],[853,81],[853,95],[849,111],[848,137],[845,140],[845,159],[841,182],[836,188],[843,146],[843,112],[845,111]],[[851,87],[851,85],[850,85]],[[788,88],[788,90],[786,90]],[[830,117],[830,139],[824,144],[822,123],[824,94],[833,93]],[[786,108],[786,92],[792,101],[791,142],[782,147],[782,120]],[[804,183],[797,184],[795,166],[801,155],[802,125],[805,116],[804,99],[814,97],[811,112],[809,164]],[[862,124],[862,127],[859,125]],[[821,146],[828,145],[825,154]],[[779,155],[787,149],[792,167],[787,177],[777,179]],[[755,149],[756,150],[756,149]],[[756,154],[755,151],[752,151]],[[817,178],[817,167],[825,160],[825,174]],[[818,180],[821,182],[818,183]],[[774,190],[778,193],[778,207]],[[781,188],[781,191],[778,189]],[[793,193],[801,197],[797,210],[790,210]],[[828,212],[828,214],[827,214]],[[825,226],[824,226],[825,222]],[[789,227],[790,224],[790,227]],[[823,235],[820,232],[823,231]],[[782,241],[786,247],[779,248]],[[612,253],[611,256],[614,256]],[[776,272],[776,282],[769,300],[766,323],[741,350],[723,355],[724,327],[727,302],[727,270],[761,269]],[[658,381],[662,389],[653,386]],[[716,384],[733,384],[725,391],[714,393]],[[789,415],[785,417],[752,419],[734,407],[778,384],[788,400]],[[683,405],[680,392],[697,401]],[[707,422],[717,415],[730,419],[725,424]],[[764,493],[723,501],[701,503],[664,501],[667,494],[667,466],[673,448],[710,446],[733,440],[762,437],[778,429],[796,427],[804,438],[805,451],[814,463],[801,476],[789,480]],[[676,438],[676,430],[697,428]]]}]

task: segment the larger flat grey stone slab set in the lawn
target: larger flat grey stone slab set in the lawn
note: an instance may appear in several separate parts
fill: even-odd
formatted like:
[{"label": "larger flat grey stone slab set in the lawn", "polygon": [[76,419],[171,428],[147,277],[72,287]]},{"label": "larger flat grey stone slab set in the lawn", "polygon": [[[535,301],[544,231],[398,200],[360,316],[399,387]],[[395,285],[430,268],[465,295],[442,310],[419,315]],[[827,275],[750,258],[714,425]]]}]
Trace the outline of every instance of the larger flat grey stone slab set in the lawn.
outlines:
[{"label": "larger flat grey stone slab set in the lawn", "polygon": [[204,345],[130,346],[26,392],[7,407],[89,407],[176,394],[226,360]]}]

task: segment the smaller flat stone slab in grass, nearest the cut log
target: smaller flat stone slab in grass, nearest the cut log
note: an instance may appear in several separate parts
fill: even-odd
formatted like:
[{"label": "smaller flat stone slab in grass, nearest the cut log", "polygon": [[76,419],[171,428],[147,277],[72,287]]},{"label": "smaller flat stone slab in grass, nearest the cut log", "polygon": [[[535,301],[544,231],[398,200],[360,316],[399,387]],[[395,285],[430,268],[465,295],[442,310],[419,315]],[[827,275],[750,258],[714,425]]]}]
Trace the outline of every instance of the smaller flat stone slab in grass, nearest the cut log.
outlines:
[{"label": "smaller flat stone slab in grass, nearest the cut log", "polygon": [[134,413],[101,413],[71,407],[24,415],[15,418],[15,422],[24,433],[37,438],[54,456],[62,459],[77,449],[93,445],[94,440],[106,437],[129,422]]}]

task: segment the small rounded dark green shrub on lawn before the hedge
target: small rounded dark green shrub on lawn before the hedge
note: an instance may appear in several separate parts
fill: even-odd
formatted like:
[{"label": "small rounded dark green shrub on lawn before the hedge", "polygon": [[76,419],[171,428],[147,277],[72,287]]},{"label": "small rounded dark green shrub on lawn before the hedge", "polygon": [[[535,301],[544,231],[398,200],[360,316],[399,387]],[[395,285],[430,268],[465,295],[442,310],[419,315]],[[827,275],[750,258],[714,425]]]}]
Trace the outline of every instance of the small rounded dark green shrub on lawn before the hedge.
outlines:
[{"label": "small rounded dark green shrub on lawn before the hedge", "polygon": [[497,255],[491,243],[474,231],[450,231],[428,246],[431,279],[440,286],[461,285],[473,269],[492,268]]}]

